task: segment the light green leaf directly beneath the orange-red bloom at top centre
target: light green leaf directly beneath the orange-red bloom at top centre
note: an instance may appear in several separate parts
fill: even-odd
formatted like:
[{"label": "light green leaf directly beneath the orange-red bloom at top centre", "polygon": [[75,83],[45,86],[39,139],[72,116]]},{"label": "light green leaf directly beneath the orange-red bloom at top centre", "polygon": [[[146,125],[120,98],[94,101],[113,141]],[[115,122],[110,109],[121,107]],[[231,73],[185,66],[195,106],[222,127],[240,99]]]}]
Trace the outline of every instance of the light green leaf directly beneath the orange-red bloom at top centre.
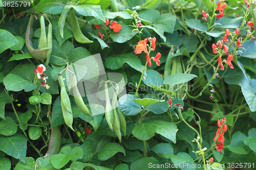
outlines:
[{"label": "light green leaf directly beneath the orange-red bloom at top centre", "polygon": [[133,31],[132,27],[129,27],[123,23],[120,23],[120,25],[122,26],[122,29],[118,33],[110,33],[110,38],[112,38],[114,42],[126,42],[132,39],[137,34],[137,31]]}]

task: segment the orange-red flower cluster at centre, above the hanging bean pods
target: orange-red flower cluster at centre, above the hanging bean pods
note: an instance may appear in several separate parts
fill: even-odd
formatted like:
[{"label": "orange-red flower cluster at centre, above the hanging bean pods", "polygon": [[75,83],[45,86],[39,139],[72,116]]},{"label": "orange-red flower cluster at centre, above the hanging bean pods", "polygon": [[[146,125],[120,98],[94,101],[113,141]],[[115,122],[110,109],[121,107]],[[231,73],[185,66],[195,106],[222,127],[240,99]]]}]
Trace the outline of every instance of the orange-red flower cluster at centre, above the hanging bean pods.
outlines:
[{"label": "orange-red flower cluster at centre, above the hanging bean pods", "polygon": [[151,63],[151,59],[153,59],[153,61],[156,62],[156,64],[158,66],[160,66],[160,58],[161,58],[161,53],[157,53],[156,57],[152,57],[150,58],[150,54],[147,53],[147,48],[146,48],[146,43],[147,43],[147,40],[151,42],[151,51],[155,51],[155,48],[156,48],[156,37],[153,37],[153,38],[145,38],[144,40],[141,40],[138,42],[138,45],[136,45],[136,48],[135,48],[135,54],[140,54],[142,51],[144,53],[146,53],[146,62],[148,64],[148,66],[151,67],[152,63]]}]

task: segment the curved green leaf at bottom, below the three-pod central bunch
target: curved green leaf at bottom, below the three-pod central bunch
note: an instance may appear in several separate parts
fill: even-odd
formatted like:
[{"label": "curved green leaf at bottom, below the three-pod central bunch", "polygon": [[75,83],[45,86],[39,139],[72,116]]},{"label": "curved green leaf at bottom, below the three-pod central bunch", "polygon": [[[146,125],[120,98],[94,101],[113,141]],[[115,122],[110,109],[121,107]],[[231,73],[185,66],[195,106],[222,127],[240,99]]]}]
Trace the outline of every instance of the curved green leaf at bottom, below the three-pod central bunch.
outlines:
[{"label": "curved green leaf at bottom, below the three-pod central bunch", "polygon": [[108,160],[118,152],[122,152],[125,155],[125,150],[123,149],[123,147],[121,147],[120,144],[108,143],[104,145],[104,147],[102,147],[101,150],[98,152],[98,159],[101,161]]}]

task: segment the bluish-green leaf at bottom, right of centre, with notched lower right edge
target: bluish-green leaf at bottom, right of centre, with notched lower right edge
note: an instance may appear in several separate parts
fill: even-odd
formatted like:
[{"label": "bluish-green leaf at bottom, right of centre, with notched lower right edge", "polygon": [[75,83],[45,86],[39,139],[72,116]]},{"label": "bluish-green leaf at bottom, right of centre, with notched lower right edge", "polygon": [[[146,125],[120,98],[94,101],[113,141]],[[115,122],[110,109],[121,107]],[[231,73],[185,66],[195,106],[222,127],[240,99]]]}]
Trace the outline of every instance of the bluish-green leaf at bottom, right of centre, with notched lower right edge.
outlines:
[{"label": "bluish-green leaf at bottom, right of centre, with notched lower right edge", "polygon": [[158,143],[151,150],[164,159],[166,159],[165,154],[174,154],[173,147],[168,143]]}]

